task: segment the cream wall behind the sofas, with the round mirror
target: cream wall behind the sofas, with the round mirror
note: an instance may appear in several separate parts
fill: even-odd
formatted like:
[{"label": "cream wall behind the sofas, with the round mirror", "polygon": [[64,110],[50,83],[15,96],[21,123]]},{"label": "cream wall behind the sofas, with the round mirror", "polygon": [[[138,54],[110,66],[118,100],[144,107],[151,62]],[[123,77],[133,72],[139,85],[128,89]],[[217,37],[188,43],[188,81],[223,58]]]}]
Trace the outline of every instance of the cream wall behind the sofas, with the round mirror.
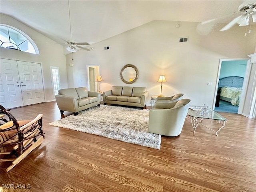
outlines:
[{"label": "cream wall behind the sofas, with the round mirror", "polygon": [[[201,36],[196,32],[196,24],[180,22],[176,28],[172,21],[149,22],[92,45],[90,52],[75,52],[73,67],[69,66],[72,54],[68,54],[68,86],[86,86],[86,65],[99,64],[103,92],[111,86],[144,86],[150,96],[160,94],[160,83],[156,81],[159,75],[165,75],[163,95],[184,93],[191,104],[213,106],[220,58],[248,58],[248,54],[254,53],[255,28],[247,36],[244,27],[236,26]],[[188,42],[180,43],[180,37],[188,37]],[[104,46],[110,49],[104,50]],[[139,78],[134,84],[125,84],[120,78],[126,64],[138,68]],[[207,86],[207,82],[212,82],[212,86]]]}]

